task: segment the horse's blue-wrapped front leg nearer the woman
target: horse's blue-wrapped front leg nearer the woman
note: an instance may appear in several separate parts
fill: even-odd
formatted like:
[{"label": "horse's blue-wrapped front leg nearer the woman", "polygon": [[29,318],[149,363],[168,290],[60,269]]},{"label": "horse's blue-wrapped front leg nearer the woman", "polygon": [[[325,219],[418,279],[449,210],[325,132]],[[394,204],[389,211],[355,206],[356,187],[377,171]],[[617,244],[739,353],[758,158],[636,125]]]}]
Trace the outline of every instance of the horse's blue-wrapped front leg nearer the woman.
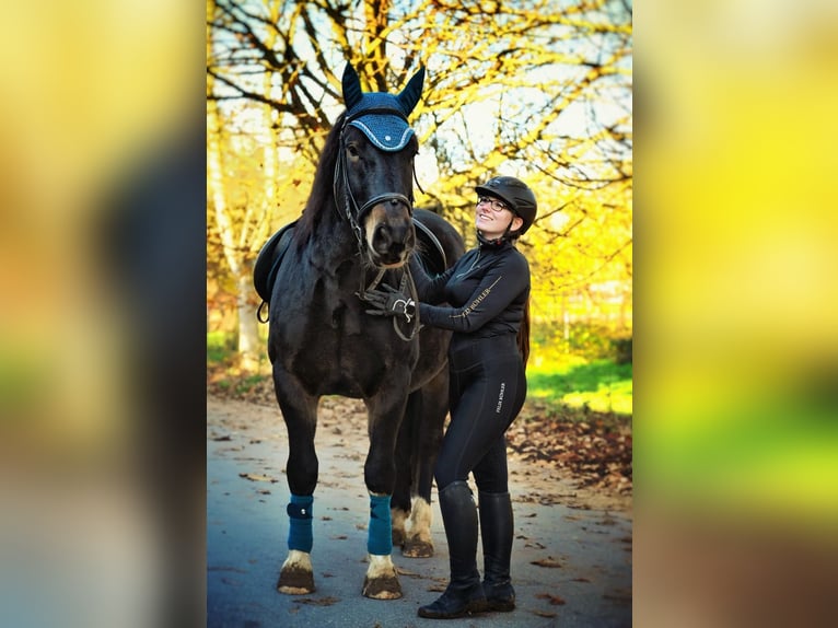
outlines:
[{"label": "horse's blue-wrapped front leg nearer the woman", "polygon": [[375,600],[401,597],[396,567],[393,565],[391,498],[395,484],[394,453],[399,423],[405,414],[407,377],[404,385],[391,385],[366,402],[370,425],[370,451],[364,463],[364,481],[370,491],[370,526],[366,551],[370,566],[363,583],[363,595]]}]

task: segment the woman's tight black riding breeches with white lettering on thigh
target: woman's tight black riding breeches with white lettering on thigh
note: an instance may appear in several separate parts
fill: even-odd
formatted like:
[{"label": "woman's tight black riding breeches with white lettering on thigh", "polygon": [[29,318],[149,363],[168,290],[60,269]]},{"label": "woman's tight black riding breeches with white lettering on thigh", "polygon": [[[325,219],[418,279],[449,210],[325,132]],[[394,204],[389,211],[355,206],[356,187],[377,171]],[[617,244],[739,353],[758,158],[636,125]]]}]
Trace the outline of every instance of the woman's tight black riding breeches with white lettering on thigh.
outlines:
[{"label": "woman's tight black riding breeches with white lettering on thigh", "polygon": [[515,336],[456,340],[449,353],[451,423],[437,460],[437,489],[474,473],[479,490],[507,492],[504,432],[526,397]]}]

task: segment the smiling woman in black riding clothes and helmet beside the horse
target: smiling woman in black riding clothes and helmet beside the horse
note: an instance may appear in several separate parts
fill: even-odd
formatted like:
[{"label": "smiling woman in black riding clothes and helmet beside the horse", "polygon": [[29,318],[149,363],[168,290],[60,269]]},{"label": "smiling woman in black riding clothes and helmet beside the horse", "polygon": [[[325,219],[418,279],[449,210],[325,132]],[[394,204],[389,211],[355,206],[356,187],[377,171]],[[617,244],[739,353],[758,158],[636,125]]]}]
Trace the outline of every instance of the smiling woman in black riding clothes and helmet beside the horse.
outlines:
[{"label": "smiling woman in black riding clothes and helmet beside the horse", "polygon": [[[416,257],[410,260],[420,321],[454,333],[449,349],[451,422],[434,469],[451,581],[439,600],[419,608],[420,617],[438,619],[515,607],[504,432],[526,396],[517,336],[522,325],[523,333],[528,333],[529,265],[514,243],[533,224],[536,200],[523,182],[511,176],[494,177],[475,189],[479,245],[433,278]],[[404,314],[404,304],[410,302],[392,289],[375,291],[368,299],[376,307],[374,314]],[[526,340],[523,346],[528,346]],[[469,473],[478,489],[482,583],[476,560],[477,508],[466,481]]]}]

